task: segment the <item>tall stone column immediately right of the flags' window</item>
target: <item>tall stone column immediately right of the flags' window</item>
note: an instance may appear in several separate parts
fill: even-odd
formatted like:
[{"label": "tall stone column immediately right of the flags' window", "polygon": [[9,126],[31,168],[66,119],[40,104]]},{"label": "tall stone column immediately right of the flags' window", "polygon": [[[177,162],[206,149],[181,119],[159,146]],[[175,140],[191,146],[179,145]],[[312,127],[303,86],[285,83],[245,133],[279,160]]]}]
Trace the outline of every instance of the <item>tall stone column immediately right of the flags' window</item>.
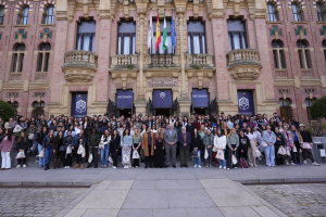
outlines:
[{"label": "tall stone column immediately right of the flags' window", "polygon": [[184,17],[185,17],[185,11],[186,7],[176,5],[177,15],[178,15],[178,22],[179,22],[179,46],[180,46],[180,65],[181,65],[181,93],[179,99],[179,112],[178,115],[190,115],[190,105],[191,101],[188,97],[188,90],[186,87],[186,61],[185,61],[185,40],[184,40]]}]

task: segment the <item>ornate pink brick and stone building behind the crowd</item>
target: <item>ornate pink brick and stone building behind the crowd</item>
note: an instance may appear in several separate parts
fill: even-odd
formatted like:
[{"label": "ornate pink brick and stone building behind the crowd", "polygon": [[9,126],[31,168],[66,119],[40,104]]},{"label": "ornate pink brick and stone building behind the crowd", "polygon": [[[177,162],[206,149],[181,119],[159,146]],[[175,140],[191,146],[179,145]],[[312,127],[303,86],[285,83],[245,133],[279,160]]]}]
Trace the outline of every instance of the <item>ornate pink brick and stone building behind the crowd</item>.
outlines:
[{"label": "ornate pink brick and stone building behind the crowd", "polygon": [[325,3],[0,0],[0,98],[28,117],[276,111],[308,122],[326,95]]}]

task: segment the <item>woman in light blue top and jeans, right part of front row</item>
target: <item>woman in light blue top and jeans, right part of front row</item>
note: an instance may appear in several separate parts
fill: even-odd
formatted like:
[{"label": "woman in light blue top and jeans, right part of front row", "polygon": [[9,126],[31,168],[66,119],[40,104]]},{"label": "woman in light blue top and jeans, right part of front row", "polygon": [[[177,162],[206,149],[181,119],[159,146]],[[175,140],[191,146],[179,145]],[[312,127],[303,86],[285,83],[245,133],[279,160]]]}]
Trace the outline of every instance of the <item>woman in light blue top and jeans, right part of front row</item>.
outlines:
[{"label": "woman in light blue top and jeans, right part of front row", "polygon": [[266,130],[263,131],[262,141],[267,143],[267,146],[264,148],[265,156],[266,156],[266,166],[275,167],[275,142],[276,137],[275,133],[271,130],[271,126],[266,126]]}]

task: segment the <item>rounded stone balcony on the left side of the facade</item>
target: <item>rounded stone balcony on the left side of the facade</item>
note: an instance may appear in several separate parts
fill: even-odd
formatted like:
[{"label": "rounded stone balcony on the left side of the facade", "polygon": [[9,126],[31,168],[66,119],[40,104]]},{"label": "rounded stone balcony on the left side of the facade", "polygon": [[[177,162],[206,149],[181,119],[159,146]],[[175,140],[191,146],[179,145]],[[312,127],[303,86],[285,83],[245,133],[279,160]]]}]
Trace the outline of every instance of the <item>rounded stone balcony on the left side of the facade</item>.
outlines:
[{"label": "rounded stone balcony on the left side of the facade", "polygon": [[90,51],[73,50],[65,52],[62,71],[71,82],[87,82],[93,78],[98,55]]}]

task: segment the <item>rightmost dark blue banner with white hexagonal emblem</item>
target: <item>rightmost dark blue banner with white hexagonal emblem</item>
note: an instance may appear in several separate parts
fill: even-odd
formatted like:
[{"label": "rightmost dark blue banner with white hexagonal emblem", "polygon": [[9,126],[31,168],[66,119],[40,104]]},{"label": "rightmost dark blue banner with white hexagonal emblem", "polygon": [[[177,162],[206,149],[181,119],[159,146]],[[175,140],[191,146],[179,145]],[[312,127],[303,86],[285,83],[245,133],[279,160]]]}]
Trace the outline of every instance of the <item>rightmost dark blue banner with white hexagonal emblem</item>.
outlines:
[{"label": "rightmost dark blue banner with white hexagonal emblem", "polygon": [[250,90],[238,91],[238,110],[240,115],[254,114],[252,91]]}]

